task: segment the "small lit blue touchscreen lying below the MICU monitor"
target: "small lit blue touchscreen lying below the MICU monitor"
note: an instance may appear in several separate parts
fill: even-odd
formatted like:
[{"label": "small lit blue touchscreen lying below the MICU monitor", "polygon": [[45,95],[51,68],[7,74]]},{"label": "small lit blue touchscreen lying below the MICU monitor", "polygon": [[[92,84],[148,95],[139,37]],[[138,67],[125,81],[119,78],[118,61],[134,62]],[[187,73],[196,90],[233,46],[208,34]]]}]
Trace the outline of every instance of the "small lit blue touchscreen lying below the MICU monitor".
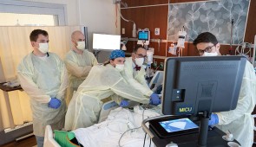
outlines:
[{"label": "small lit blue touchscreen lying below the MICU monitor", "polygon": [[167,121],[159,122],[159,124],[167,132],[187,131],[190,129],[198,128],[198,125],[195,125],[194,122],[191,121],[189,118],[167,120]]}]

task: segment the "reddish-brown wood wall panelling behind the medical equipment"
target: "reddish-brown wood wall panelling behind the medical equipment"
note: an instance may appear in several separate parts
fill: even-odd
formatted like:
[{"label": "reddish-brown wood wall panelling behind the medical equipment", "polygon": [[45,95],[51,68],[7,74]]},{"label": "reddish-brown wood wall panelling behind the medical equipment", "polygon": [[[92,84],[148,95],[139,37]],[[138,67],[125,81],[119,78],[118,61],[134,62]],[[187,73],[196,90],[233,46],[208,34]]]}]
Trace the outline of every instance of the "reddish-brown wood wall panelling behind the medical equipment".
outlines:
[{"label": "reddish-brown wood wall panelling behind the medical equipment", "polygon": [[[203,0],[170,0],[170,3],[187,3],[198,2]],[[167,15],[168,15],[168,0],[123,0],[128,4],[128,8],[121,9],[121,14],[128,20],[133,20],[136,23],[137,29],[148,28],[151,31],[150,39],[161,39],[160,48],[158,42],[150,42],[150,47],[153,47],[154,55],[161,57],[172,56],[167,53],[167,48],[171,42],[167,40]],[[254,35],[256,35],[256,20],[253,18],[256,13],[256,1],[251,0],[247,23],[246,23],[246,35],[245,42],[253,42]],[[122,37],[132,37],[132,22],[124,22],[121,20],[121,29],[125,29],[125,34]],[[160,28],[160,35],[154,35],[154,29]],[[132,51],[132,48],[136,45],[136,42],[128,42],[128,52]],[[228,54],[229,45],[221,45],[220,52],[222,54]],[[235,48],[235,47],[233,47]],[[192,42],[186,42],[183,49],[184,56],[199,55]],[[159,60],[159,59],[158,59]],[[163,60],[161,60],[163,61]]]}]

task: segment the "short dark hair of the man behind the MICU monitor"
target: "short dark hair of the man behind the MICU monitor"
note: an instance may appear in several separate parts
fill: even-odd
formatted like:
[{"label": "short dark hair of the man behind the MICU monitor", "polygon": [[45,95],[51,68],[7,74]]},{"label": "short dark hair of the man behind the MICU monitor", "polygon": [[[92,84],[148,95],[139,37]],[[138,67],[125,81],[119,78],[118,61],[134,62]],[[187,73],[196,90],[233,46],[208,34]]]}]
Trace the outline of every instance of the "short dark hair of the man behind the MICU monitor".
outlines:
[{"label": "short dark hair of the man behind the MICU monitor", "polygon": [[205,42],[205,43],[211,42],[214,45],[218,44],[216,36],[210,32],[204,32],[204,33],[201,33],[200,35],[198,35],[196,37],[196,39],[194,40],[193,44],[196,46],[197,44],[199,44],[201,42]]}]

